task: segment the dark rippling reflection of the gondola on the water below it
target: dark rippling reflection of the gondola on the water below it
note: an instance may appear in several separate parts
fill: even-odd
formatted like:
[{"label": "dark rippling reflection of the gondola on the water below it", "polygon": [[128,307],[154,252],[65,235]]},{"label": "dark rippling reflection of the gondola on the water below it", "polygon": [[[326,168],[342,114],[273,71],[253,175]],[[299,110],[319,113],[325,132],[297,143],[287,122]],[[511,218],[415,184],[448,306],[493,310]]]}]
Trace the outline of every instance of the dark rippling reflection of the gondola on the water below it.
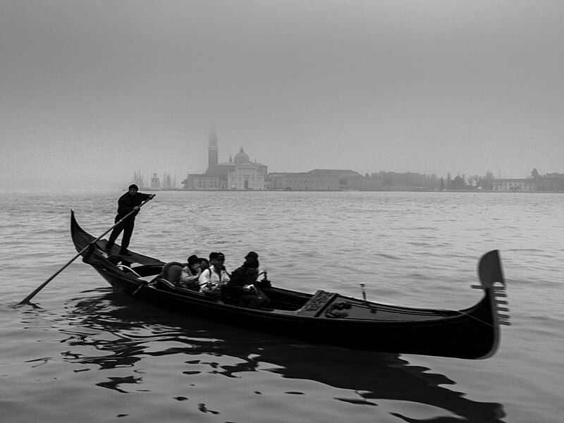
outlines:
[{"label": "dark rippling reflection of the gondola on the water below it", "polygon": [[[198,360],[190,360],[190,357],[234,357],[237,364],[209,362],[209,372],[226,376],[273,372],[287,379],[317,381],[351,391],[350,396],[335,400],[373,405],[379,404],[379,400],[406,401],[438,407],[460,416],[460,419],[417,420],[396,415],[406,422],[502,422],[505,416],[501,404],[472,401],[464,398],[463,393],[443,388],[441,385],[454,385],[455,382],[442,374],[429,373],[425,367],[412,366],[398,354],[288,344],[286,338],[249,332],[197,317],[189,317],[179,324],[176,313],[150,305],[129,306],[127,298],[114,293],[78,302],[66,317],[77,326],[101,331],[103,339],[97,340],[95,336],[92,339],[92,334],[85,337],[78,331],[67,343],[94,346],[102,355],[85,357],[69,352],[67,359],[110,369],[135,366],[147,356],[182,354],[188,357],[187,364],[178,368],[178,372],[192,374],[192,366]],[[146,335],[132,336],[132,330],[138,329]],[[107,338],[104,335],[107,333],[112,336]],[[171,348],[171,341],[180,346]],[[159,343],[166,346],[159,350]],[[142,384],[142,377],[133,379],[132,376],[110,379],[98,385],[121,391],[121,384]]]}]

